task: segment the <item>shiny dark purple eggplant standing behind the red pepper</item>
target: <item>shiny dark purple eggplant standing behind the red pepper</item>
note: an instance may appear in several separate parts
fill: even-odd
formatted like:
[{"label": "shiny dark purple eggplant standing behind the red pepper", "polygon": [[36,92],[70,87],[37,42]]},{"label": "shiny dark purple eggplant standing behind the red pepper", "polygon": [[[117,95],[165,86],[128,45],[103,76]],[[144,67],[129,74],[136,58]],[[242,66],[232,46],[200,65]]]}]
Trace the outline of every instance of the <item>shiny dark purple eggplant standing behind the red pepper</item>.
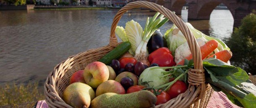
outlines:
[{"label": "shiny dark purple eggplant standing behind the red pepper", "polygon": [[162,33],[160,31],[155,31],[155,33],[151,36],[147,44],[149,54],[161,47],[166,46],[167,45],[165,39],[163,38]]}]

